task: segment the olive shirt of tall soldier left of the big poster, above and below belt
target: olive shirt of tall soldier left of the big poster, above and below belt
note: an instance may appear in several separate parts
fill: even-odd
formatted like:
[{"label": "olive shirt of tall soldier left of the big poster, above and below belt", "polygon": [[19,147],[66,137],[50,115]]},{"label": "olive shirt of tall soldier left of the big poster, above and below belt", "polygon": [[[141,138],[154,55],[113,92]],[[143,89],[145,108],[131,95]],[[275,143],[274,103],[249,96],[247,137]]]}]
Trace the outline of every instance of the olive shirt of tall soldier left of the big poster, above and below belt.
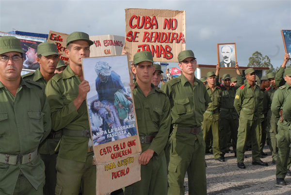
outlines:
[{"label": "olive shirt of tall soldier left of the big poster, above and below belt", "polygon": [[[70,66],[54,75],[48,82],[46,94],[49,101],[52,129],[89,130],[86,101],[77,110],[74,100],[78,96],[79,77]],[[63,135],[58,156],[66,160],[85,162],[89,138]]]}]

